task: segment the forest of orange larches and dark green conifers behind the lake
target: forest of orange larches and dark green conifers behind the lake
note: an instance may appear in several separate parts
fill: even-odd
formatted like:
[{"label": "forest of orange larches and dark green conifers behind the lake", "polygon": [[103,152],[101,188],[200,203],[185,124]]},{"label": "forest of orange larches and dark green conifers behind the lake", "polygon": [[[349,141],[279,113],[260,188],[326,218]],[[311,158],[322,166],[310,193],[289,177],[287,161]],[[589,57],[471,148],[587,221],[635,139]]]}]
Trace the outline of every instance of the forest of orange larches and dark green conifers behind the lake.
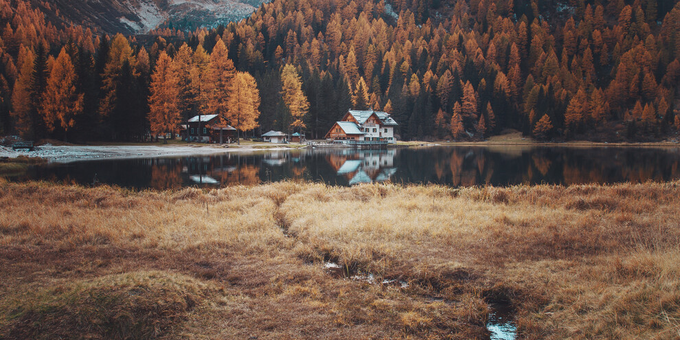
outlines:
[{"label": "forest of orange larches and dark green conifers behind the lake", "polygon": [[677,1],[275,0],[226,27],[124,37],[0,0],[0,21],[2,133],[34,139],[144,139],[199,113],[322,138],[350,108],[392,113],[401,139],[680,129]]}]

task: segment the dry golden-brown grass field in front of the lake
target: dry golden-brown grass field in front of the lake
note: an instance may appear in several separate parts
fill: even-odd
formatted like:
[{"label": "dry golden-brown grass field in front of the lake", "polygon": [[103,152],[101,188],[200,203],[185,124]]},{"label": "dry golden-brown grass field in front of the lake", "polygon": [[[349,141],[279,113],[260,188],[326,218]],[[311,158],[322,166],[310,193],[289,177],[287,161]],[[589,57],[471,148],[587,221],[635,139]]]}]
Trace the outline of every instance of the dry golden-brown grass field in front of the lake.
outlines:
[{"label": "dry golden-brown grass field in front of the lake", "polygon": [[0,339],[678,339],[679,197],[0,179]]}]

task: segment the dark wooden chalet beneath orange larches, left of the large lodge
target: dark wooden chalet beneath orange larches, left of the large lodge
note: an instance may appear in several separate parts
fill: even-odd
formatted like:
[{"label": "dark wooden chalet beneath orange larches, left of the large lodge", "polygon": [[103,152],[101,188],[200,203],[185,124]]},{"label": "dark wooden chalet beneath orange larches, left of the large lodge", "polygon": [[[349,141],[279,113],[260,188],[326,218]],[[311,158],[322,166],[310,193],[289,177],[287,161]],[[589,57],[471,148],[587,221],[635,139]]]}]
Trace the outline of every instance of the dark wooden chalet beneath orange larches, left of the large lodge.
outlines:
[{"label": "dark wooden chalet beneath orange larches, left of the large lodge", "polygon": [[196,115],[180,131],[180,136],[183,141],[219,143],[221,130],[223,143],[236,141],[236,128],[229,125],[220,127],[219,123],[218,115]]}]

